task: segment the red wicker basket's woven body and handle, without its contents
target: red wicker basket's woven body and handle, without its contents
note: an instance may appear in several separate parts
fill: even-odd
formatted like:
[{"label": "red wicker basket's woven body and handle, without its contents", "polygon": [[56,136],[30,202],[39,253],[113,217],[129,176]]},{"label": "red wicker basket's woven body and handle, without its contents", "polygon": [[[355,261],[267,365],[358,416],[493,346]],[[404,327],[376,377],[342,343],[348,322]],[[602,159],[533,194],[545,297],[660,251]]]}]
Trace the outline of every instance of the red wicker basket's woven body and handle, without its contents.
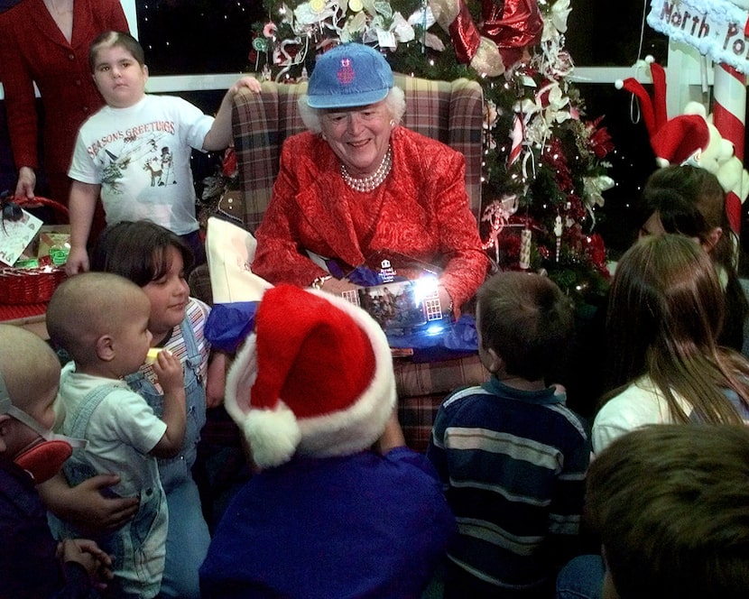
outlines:
[{"label": "red wicker basket's woven body and handle, without its contents", "polygon": [[[34,198],[35,203],[53,207],[65,217],[68,208],[48,198]],[[26,201],[18,201],[23,207]],[[65,268],[62,266],[41,266],[39,268],[0,268],[0,303],[2,304],[38,304],[49,301],[60,281],[65,279]]]}]

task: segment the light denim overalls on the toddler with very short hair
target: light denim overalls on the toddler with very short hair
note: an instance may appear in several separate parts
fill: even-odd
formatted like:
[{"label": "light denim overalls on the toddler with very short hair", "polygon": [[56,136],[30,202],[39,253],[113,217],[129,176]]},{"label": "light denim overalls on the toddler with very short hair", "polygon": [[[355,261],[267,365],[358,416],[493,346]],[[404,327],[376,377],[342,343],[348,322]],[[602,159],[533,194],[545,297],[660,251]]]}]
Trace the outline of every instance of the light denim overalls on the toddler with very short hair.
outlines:
[{"label": "light denim overalls on the toddler with very short hair", "polygon": [[[75,438],[87,438],[88,421],[94,410],[110,393],[122,387],[103,385],[89,392],[76,412],[69,413],[69,434]],[[66,427],[67,429],[67,427]],[[63,470],[71,486],[82,483],[98,473],[85,460],[85,449],[73,450]],[[133,520],[115,532],[97,537],[99,547],[112,557],[115,580],[107,585],[107,593],[116,597],[139,599],[151,598],[159,592],[164,567],[168,515],[164,504],[164,493],[159,484],[156,461],[145,457],[143,467],[150,470],[152,485],[140,492],[140,505]],[[107,493],[112,493],[107,491]],[[50,527],[56,539],[74,539],[81,535],[67,522],[50,514]]]}]

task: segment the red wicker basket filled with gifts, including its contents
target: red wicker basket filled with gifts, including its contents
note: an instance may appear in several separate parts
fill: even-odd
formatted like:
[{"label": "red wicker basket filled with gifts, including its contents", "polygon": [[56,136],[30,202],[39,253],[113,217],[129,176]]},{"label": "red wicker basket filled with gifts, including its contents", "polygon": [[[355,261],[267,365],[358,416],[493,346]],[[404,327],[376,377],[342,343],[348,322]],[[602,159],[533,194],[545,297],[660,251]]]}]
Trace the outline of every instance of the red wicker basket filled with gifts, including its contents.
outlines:
[{"label": "red wicker basket filled with gifts, including its contents", "polygon": [[[49,206],[58,214],[67,217],[68,208],[49,198],[36,197],[34,204]],[[37,304],[49,301],[52,293],[65,278],[64,264],[69,252],[69,226],[41,226],[41,221],[32,217],[23,207],[25,201],[8,201],[4,198],[0,237],[4,243],[23,243],[24,235],[31,241],[23,253],[7,265],[9,250],[0,263],[0,304]],[[34,221],[39,226],[34,226]]]}]

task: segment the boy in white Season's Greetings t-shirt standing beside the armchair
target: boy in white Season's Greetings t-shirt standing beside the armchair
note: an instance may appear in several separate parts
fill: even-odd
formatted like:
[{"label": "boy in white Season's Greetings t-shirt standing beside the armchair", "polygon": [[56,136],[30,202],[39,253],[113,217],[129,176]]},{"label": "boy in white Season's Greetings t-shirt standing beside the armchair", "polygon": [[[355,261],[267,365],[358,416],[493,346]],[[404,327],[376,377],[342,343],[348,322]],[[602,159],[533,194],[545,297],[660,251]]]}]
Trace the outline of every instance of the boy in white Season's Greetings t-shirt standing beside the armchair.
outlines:
[{"label": "boy in white Season's Greetings t-shirt standing beside the armchair", "polygon": [[259,92],[260,83],[240,78],[214,118],[180,97],[146,94],[143,47],[129,33],[99,35],[88,62],[106,106],[81,126],[68,171],[68,273],[88,271],[86,247],[99,197],[107,224],[152,220],[183,236],[202,262],[190,154],[231,143],[232,100],[242,87]]}]

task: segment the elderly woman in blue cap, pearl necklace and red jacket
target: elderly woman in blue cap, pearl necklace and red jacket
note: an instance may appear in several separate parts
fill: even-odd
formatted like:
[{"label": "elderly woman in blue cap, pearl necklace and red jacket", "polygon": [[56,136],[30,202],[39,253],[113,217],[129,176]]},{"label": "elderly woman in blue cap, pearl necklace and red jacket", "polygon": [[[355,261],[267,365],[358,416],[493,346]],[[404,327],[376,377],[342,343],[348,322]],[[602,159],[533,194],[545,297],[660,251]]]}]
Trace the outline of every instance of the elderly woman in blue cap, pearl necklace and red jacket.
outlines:
[{"label": "elderly woman in blue cap, pearl necklace and red jacket", "polygon": [[375,253],[439,267],[444,312],[484,281],[462,154],[400,124],[405,100],[383,55],[347,43],[320,56],[299,107],[309,131],[283,145],[253,272],[341,294]]}]

